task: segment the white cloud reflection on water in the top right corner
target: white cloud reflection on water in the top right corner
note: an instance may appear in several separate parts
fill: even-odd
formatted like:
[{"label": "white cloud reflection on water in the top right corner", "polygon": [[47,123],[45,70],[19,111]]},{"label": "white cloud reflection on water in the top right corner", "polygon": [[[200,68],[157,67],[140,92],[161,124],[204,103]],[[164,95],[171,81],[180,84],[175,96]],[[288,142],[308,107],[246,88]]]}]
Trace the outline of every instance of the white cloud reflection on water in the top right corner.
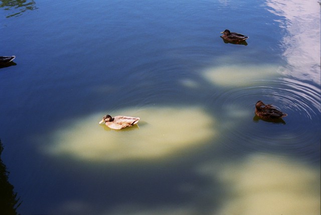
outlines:
[{"label": "white cloud reflection on water in the top right corner", "polygon": [[266,2],[269,12],[282,17],[282,22],[276,22],[287,31],[281,45],[288,65],[282,72],[320,84],[320,8],[317,4],[300,0]]}]

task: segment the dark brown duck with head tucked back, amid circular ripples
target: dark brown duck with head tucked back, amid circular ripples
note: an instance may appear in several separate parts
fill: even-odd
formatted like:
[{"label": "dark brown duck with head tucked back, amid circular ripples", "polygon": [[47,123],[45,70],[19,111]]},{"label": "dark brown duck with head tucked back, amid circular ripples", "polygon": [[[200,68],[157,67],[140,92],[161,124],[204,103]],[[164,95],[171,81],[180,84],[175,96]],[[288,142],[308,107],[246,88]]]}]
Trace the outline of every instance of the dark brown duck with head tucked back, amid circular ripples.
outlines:
[{"label": "dark brown duck with head tucked back, amid circular ripples", "polygon": [[275,109],[272,104],[264,104],[263,101],[256,102],[255,114],[262,119],[278,119],[287,116],[287,114]]}]

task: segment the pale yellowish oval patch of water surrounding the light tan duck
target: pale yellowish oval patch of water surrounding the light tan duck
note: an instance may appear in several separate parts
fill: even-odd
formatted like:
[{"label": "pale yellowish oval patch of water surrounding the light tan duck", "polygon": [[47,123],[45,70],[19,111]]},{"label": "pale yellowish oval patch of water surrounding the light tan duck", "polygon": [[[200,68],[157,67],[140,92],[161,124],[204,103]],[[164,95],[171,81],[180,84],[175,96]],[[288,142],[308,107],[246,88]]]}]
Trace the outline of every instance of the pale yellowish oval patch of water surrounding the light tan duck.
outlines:
[{"label": "pale yellowish oval patch of water surrounding the light tan duck", "polygon": [[215,119],[198,106],[153,106],[117,112],[139,117],[138,126],[111,130],[98,125],[106,113],[93,114],[53,131],[50,144],[43,150],[87,161],[157,159],[208,144],[217,136]]}]

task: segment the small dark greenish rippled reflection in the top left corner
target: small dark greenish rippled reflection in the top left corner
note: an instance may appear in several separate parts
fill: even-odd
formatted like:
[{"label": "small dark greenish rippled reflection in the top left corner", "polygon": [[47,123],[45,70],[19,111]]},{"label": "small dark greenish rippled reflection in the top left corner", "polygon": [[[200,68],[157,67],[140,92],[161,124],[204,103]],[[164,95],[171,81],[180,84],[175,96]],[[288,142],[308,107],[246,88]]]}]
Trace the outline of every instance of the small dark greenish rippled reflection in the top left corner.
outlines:
[{"label": "small dark greenish rippled reflection in the top left corner", "polygon": [[32,11],[38,9],[36,7],[36,2],[33,0],[23,0],[23,1],[13,1],[13,0],[1,0],[0,8],[4,8],[5,11],[10,11],[11,15],[7,16],[6,18],[10,17],[18,17],[21,16],[22,13],[26,11]]}]

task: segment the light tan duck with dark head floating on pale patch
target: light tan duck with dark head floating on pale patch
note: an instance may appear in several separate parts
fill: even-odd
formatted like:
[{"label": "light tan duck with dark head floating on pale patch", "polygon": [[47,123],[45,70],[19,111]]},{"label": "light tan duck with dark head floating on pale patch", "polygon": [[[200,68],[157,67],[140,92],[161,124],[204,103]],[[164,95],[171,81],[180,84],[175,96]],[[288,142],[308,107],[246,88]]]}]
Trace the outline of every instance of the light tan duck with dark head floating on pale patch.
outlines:
[{"label": "light tan duck with dark head floating on pale patch", "polygon": [[135,117],[116,116],[112,118],[110,115],[105,115],[99,124],[105,123],[111,129],[123,129],[133,126],[138,123],[140,119]]}]

